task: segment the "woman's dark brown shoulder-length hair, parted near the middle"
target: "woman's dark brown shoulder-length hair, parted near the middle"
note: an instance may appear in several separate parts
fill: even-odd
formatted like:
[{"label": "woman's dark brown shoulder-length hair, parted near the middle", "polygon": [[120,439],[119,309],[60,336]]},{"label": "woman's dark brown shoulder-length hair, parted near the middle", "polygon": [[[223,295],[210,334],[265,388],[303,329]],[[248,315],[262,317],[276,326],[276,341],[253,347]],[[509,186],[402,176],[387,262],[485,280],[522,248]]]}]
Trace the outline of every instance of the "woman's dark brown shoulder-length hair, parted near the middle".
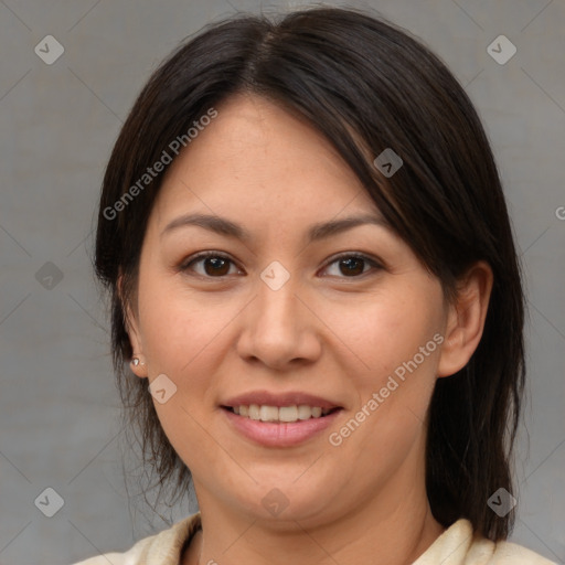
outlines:
[{"label": "woman's dark brown shoulder-length hair, parted near the middle", "polygon": [[[175,139],[185,145],[210,108],[243,92],[278,104],[331,141],[448,299],[475,262],[492,268],[481,341],[463,369],[435,385],[426,488],[445,527],[466,518],[486,537],[508,537],[513,512],[500,518],[487,501],[501,487],[513,490],[524,296],[497,166],[472,103],[445,64],[405,30],[356,9],[244,13],[209,24],[153,72],[124,124],[103,181],[94,267],[111,300],[114,366],[143,463],[177,497],[190,484],[147,380],[128,365],[125,305],[137,299],[140,250],[166,170],[145,184],[139,179],[163,151],[171,154]],[[373,162],[386,148],[403,160],[391,178]]]}]

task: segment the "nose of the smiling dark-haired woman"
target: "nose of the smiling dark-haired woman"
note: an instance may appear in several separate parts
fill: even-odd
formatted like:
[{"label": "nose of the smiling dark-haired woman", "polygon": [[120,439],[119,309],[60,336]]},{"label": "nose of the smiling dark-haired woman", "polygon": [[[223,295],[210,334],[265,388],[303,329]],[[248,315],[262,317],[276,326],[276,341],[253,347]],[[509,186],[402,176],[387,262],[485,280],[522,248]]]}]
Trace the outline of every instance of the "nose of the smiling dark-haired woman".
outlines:
[{"label": "nose of the smiling dark-haired woman", "polygon": [[285,370],[320,356],[319,330],[323,324],[312,305],[299,295],[292,276],[277,290],[258,279],[257,295],[241,319],[237,351],[242,359]]}]

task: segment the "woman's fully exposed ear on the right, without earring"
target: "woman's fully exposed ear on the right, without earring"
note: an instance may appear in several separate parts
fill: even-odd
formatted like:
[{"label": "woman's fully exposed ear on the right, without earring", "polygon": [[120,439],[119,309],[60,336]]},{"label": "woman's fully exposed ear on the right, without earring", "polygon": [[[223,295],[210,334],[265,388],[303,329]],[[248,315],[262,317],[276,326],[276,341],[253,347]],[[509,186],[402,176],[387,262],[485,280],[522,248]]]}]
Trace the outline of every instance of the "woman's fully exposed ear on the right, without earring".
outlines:
[{"label": "woman's fully exposed ear on the right, without earring", "polygon": [[492,291],[492,269],[483,260],[476,263],[457,284],[457,297],[449,305],[445,341],[438,363],[438,376],[460,371],[479,345]]}]

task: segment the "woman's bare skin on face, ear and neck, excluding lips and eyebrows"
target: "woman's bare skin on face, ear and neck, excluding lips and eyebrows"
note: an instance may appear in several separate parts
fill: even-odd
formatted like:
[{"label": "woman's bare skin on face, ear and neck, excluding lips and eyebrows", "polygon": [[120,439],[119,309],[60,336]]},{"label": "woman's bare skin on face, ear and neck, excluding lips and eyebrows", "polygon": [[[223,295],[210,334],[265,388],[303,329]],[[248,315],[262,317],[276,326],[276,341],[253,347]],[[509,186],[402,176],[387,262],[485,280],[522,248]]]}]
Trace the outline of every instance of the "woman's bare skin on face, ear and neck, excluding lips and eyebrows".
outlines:
[{"label": "woman's bare skin on face, ear and neck, excluding lips and eyebrows", "polygon": [[[156,409],[192,472],[202,514],[182,563],[412,563],[444,531],[425,490],[430,395],[478,345],[491,270],[475,265],[447,303],[440,281],[386,226],[307,244],[315,223],[379,210],[330,142],[280,107],[237,95],[217,110],[168,170],[127,307],[145,363],[132,370],[150,382],[164,373],[178,387]],[[161,235],[194,212],[242,224],[250,239],[198,226]],[[186,266],[202,250],[233,263],[221,276],[210,262],[207,270],[203,260]],[[342,252],[381,267],[361,262],[350,275],[334,259]],[[259,276],[274,260],[290,274],[276,291]],[[436,333],[443,344],[332,446],[329,434]],[[299,446],[262,447],[218,407],[255,390],[302,391],[343,409],[331,429]],[[262,504],[274,488],[288,500],[276,516]]]}]

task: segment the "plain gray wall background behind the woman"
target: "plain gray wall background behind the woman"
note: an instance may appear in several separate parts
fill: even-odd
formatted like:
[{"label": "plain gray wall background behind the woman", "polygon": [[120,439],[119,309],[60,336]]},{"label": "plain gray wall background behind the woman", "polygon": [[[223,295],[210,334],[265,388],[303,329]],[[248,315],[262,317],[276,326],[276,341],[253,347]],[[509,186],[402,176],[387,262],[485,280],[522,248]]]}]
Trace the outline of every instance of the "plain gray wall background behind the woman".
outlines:
[{"label": "plain gray wall background behind the woman", "polygon": [[[512,540],[564,563],[565,2],[349,4],[374,8],[422,38],[486,124],[531,313],[527,433],[522,428],[518,447]],[[128,504],[108,323],[90,270],[93,216],[113,142],[159,61],[211,20],[298,6],[0,0],[1,564],[124,551],[195,510],[184,502],[159,516],[138,495]],[[34,53],[47,34],[65,49],[52,65]],[[504,65],[487,52],[499,34],[518,49]],[[40,271],[47,262],[60,281],[45,279],[56,275],[53,266]],[[64,500],[53,518],[34,505],[47,487]]]}]

